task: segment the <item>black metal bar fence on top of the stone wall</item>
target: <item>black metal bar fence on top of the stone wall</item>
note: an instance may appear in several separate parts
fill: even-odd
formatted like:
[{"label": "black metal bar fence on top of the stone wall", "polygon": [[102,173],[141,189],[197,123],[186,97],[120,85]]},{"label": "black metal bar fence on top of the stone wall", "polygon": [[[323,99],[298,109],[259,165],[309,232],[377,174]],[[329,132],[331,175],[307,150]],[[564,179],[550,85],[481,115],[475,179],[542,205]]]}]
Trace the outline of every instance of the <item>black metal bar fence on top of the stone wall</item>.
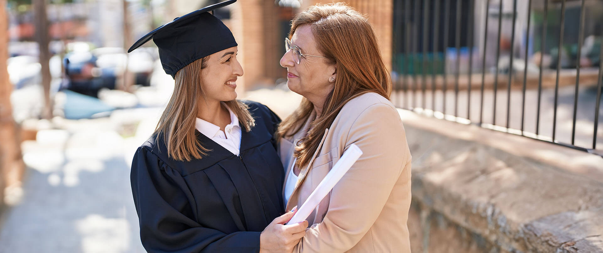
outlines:
[{"label": "black metal bar fence on top of the stone wall", "polygon": [[603,156],[603,1],[394,0],[393,29],[397,106]]}]

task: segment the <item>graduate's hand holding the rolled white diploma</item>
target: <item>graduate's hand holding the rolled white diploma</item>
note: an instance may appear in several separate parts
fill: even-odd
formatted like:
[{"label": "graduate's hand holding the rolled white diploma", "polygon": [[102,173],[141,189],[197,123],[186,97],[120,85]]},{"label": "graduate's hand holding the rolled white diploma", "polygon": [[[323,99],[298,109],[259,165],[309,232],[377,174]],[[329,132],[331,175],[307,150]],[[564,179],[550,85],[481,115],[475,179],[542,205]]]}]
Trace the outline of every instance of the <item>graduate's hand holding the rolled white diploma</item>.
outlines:
[{"label": "graduate's hand holding the rolled white diploma", "polygon": [[306,228],[308,227],[308,220],[284,225],[293,217],[296,211],[297,209],[294,208],[294,210],[276,217],[268,224],[260,234],[260,253],[293,251],[293,247],[306,234]]}]

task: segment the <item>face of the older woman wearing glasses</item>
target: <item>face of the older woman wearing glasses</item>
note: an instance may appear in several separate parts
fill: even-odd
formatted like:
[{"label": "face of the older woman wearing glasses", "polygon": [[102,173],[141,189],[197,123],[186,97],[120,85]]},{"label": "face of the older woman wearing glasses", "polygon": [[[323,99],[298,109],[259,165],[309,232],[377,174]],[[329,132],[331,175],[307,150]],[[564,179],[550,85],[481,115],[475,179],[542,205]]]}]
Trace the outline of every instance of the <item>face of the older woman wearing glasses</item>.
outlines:
[{"label": "face of the older woman wearing glasses", "polygon": [[[291,37],[291,44],[300,48],[301,54],[323,56],[318,51],[310,25],[301,25]],[[293,50],[280,58],[280,66],[287,68],[287,86],[290,90],[308,98],[311,102],[324,101],[333,87],[330,78],[335,77],[335,65],[326,63],[321,57],[301,57],[297,64]]]}]

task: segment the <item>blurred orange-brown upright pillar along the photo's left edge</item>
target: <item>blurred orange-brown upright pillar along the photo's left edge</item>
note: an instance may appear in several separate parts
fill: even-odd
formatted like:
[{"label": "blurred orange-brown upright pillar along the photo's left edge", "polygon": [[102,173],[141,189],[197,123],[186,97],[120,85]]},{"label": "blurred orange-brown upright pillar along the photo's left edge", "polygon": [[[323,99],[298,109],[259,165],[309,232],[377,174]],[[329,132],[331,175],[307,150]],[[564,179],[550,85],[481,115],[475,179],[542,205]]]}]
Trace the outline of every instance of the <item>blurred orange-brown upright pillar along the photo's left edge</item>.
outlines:
[{"label": "blurred orange-brown upright pillar along the photo's left edge", "polygon": [[8,15],[6,0],[0,0],[0,206],[5,187],[19,187],[25,165],[21,155],[19,125],[13,120],[10,94],[13,85],[8,79]]}]

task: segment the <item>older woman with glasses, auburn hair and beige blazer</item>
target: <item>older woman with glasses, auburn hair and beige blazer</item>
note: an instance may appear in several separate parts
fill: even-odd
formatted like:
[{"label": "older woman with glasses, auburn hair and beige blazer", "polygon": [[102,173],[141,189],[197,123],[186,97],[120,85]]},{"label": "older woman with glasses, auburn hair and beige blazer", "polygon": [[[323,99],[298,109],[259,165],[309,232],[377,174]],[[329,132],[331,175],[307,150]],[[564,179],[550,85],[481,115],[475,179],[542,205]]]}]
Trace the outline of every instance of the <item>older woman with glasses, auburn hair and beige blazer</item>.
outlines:
[{"label": "older woman with glasses, auburn hair and beige blazer", "polygon": [[411,154],[373,29],[346,5],[314,5],[285,43],[287,85],[305,97],[277,131],[286,208],[303,204],[352,143],[363,152],[294,252],[410,252]]}]

